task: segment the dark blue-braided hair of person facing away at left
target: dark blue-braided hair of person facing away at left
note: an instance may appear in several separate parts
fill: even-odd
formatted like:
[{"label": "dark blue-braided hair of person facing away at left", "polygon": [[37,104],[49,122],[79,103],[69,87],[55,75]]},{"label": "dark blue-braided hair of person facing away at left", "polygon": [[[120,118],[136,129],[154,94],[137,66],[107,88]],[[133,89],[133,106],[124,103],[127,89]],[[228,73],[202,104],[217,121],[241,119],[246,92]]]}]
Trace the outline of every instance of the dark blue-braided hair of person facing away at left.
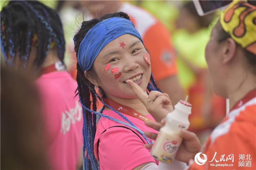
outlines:
[{"label": "dark blue-braided hair of person facing away at left", "polygon": [[[50,44],[56,42],[62,63],[65,41],[62,24],[56,11],[38,1],[10,1],[1,11],[1,50],[7,64],[13,64],[18,53],[26,68],[32,40],[37,36],[35,68],[42,67]],[[8,54],[12,57],[8,58]]]}]

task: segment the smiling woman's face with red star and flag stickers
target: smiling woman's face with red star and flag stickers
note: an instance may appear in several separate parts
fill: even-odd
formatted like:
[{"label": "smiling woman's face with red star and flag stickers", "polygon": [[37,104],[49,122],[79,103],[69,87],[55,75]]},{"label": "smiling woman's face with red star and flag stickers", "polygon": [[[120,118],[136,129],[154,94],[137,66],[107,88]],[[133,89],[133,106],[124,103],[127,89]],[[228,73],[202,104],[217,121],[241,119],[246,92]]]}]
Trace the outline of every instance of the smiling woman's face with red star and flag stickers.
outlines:
[{"label": "smiling woman's face with red star and flag stickers", "polygon": [[[150,79],[150,65],[143,58],[147,54],[141,41],[131,34],[124,34],[109,42],[99,53],[93,63],[96,79],[92,79],[85,71],[86,78],[97,87],[104,89],[108,99],[113,98],[134,98],[134,93],[126,80],[132,79],[142,89],[146,90]],[[124,48],[119,47],[119,42],[125,42]],[[107,54],[107,55],[105,55]],[[105,71],[103,68],[110,64],[112,71]],[[120,75],[118,75],[120,74]],[[104,76],[99,76],[104,75]]]}]

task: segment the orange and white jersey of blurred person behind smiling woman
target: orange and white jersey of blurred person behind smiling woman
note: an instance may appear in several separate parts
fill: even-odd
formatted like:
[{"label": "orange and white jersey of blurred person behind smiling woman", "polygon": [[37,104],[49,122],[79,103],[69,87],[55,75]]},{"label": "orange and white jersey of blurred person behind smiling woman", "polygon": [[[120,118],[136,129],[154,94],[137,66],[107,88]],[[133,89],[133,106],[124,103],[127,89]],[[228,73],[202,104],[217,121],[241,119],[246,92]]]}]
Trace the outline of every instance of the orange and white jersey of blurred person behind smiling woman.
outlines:
[{"label": "orange and white jersey of blurred person behind smiling woman", "polygon": [[177,74],[176,56],[167,28],[140,7],[124,3],[119,11],[129,15],[149,50],[151,69],[156,81]]}]

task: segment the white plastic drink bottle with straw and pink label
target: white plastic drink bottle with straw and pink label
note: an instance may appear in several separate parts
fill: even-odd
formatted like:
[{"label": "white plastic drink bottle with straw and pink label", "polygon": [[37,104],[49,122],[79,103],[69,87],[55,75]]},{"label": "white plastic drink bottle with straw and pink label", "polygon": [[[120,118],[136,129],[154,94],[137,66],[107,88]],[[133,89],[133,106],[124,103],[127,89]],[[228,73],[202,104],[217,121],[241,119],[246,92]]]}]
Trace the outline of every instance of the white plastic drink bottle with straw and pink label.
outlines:
[{"label": "white plastic drink bottle with straw and pink label", "polygon": [[188,129],[188,115],[191,114],[191,104],[180,100],[174,110],[166,116],[166,123],[156,137],[151,149],[151,155],[164,163],[172,162],[182,142],[181,129]]}]

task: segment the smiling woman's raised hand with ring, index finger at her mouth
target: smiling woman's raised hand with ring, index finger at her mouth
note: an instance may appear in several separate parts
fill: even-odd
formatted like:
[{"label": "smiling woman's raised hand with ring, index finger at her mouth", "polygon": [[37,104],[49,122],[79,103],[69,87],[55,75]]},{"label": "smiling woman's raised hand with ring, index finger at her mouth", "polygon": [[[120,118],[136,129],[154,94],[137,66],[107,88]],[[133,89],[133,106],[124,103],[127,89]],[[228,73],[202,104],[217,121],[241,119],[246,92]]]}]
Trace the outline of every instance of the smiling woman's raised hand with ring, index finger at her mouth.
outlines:
[{"label": "smiling woman's raised hand with ring, index finger at her mouth", "polygon": [[134,94],[137,95],[140,101],[146,106],[148,112],[153,116],[156,122],[161,122],[168,113],[173,111],[172,101],[167,93],[151,91],[147,94],[132,80],[126,80],[126,83],[130,85]]}]

